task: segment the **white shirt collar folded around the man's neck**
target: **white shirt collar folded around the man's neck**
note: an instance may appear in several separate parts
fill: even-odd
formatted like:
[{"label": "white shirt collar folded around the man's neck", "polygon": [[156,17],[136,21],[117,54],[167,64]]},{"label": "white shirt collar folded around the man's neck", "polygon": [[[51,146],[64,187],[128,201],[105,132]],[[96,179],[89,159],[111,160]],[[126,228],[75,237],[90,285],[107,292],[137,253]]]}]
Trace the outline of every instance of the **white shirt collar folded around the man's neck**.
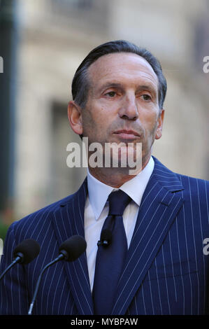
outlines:
[{"label": "white shirt collar folded around the man's neck", "polygon": [[[152,156],[150,157],[149,162],[146,167],[133,179],[130,179],[122,186],[120,186],[120,190],[123,190],[129,197],[131,197],[138,206],[140,206],[141,199],[143,197],[143,193],[147,186],[147,183],[150,179],[152,171],[154,169],[154,160]],[[94,215],[96,220],[101,215],[101,211],[108,200],[108,196],[115,189],[112,186],[108,186],[98,179],[95,179],[92,174],[89,173],[89,169],[87,169],[87,186],[89,193],[89,202],[94,211]]]}]

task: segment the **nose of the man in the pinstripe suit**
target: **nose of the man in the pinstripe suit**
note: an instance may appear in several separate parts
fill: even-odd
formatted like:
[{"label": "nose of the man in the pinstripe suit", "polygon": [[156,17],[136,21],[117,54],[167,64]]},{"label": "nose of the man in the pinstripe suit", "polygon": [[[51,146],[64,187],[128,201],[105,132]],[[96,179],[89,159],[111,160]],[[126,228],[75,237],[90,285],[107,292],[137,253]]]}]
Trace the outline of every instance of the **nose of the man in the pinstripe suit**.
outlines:
[{"label": "nose of the man in the pinstripe suit", "polygon": [[136,120],[138,118],[135,94],[129,94],[124,97],[118,114],[120,118],[126,120]]}]

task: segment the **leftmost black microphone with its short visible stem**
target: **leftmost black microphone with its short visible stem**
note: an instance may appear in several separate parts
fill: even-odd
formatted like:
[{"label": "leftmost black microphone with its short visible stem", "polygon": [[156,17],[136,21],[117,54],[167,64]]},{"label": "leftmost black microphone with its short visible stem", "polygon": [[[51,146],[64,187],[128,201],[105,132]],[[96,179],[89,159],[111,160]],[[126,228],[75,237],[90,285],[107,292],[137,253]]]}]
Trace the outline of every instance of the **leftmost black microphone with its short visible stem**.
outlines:
[{"label": "leftmost black microphone with its short visible stem", "polygon": [[38,256],[39,251],[40,246],[37,241],[33,239],[26,239],[22,241],[21,244],[18,244],[18,246],[16,246],[16,248],[14,249],[13,262],[11,262],[11,264],[3,271],[0,276],[0,280],[3,278],[6,272],[8,272],[8,270],[15,264],[29,264],[29,262],[31,262],[32,260],[34,260],[34,258]]}]

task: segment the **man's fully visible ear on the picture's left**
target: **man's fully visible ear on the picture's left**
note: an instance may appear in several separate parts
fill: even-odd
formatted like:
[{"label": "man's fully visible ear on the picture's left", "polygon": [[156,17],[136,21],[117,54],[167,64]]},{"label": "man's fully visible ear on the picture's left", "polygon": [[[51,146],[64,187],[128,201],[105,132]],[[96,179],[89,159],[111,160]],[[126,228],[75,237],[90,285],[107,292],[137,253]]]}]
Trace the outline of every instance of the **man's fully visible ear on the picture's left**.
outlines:
[{"label": "man's fully visible ear on the picture's left", "polygon": [[82,114],[78,104],[74,101],[69,102],[68,106],[68,117],[71,128],[75,134],[82,134]]}]

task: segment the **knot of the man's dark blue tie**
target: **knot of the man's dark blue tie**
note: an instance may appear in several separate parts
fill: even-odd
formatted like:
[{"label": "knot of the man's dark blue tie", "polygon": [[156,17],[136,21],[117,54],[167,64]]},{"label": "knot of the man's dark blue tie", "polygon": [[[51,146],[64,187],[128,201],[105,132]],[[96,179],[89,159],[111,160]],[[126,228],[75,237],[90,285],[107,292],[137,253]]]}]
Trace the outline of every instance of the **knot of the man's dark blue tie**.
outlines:
[{"label": "knot of the man's dark blue tie", "polygon": [[122,216],[124,209],[131,201],[131,197],[122,190],[113,191],[108,197],[109,212],[108,215]]}]

